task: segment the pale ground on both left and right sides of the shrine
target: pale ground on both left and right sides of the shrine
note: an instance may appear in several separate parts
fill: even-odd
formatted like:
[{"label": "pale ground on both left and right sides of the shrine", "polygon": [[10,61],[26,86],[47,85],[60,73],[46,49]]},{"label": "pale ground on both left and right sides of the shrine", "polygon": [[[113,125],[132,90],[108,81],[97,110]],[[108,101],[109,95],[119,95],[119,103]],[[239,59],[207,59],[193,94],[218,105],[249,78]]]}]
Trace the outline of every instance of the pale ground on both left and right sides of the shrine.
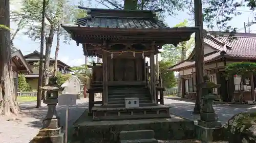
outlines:
[{"label": "pale ground on both left and right sides of the shrine", "polygon": [[[196,120],[199,116],[192,114],[195,103],[177,101],[172,99],[164,99],[165,104],[169,105],[171,113],[184,118]],[[224,123],[234,114],[241,111],[256,111],[256,106],[250,105],[214,105]],[[29,142],[41,128],[41,121],[46,116],[47,106],[42,104],[42,107],[35,108],[35,102],[20,103],[20,108],[23,111],[22,116],[16,120],[0,116],[0,143],[27,143]],[[81,113],[88,108],[88,98],[81,98],[77,105],[71,106],[69,110],[69,127],[72,128],[72,123],[81,115]],[[60,116],[60,124],[65,123],[65,107],[57,107]]]}]

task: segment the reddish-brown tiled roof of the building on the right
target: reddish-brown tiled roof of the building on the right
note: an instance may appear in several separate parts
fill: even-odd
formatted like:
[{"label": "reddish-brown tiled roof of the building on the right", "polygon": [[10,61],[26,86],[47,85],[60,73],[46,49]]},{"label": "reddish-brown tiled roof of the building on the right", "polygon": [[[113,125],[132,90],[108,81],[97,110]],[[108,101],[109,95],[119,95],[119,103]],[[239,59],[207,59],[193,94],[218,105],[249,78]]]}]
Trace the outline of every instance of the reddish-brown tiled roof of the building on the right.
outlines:
[{"label": "reddish-brown tiled roof of the building on the right", "polygon": [[[236,59],[256,60],[256,34],[236,33],[230,41],[230,33],[209,32],[204,38],[204,44],[209,45],[216,51],[205,54],[204,62],[218,60],[222,57]],[[170,71],[179,71],[195,65],[191,59],[195,56],[195,49],[188,59],[169,68]]]}]

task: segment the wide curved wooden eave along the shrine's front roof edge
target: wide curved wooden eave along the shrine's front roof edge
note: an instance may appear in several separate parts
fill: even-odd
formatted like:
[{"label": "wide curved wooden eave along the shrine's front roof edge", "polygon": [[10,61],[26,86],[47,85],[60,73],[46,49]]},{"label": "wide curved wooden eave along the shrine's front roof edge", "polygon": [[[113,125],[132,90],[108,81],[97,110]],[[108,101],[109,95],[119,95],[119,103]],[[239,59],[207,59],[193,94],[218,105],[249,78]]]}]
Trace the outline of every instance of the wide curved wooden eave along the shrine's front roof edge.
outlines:
[{"label": "wide curved wooden eave along the shrine's front roof edge", "polygon": [[[153,40],[164,44],[178,44],[190,39],[191,34],[198,31],[197,27],[177,28],[108,28],[108,27],[62,27],[72,34],[72,39],[80,43],[84,39],[136,39]],[[84,42],[84,41],[83,41]]]}]

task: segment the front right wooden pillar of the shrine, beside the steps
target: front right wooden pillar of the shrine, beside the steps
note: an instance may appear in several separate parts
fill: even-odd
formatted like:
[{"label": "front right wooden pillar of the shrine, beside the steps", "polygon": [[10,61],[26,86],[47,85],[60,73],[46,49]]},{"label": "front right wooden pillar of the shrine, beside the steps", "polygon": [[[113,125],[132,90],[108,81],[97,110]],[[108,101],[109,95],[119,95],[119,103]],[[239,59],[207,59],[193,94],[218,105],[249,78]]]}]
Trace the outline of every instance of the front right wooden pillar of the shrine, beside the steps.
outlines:
[{"label": "front right wooden pillar of the shrine, beside the steps", "polygon": [[150,78],[151,78],[151,94],[152,103],[157,103],[156,101],[156,78],[155,78],[155,55],[154,52],[150,53]]}]

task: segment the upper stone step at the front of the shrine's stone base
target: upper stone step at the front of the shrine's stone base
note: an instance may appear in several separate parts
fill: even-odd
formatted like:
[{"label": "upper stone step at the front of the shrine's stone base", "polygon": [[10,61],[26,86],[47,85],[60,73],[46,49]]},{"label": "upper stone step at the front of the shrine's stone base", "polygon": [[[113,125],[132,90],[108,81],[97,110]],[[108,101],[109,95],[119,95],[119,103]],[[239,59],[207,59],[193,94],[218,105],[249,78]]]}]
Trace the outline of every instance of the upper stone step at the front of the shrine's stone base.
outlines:
[{"label": "upper stone step at the front of the shrine's stone base", "polygon": [[155,138],[153,130],[135,130],[135,131],[121,131],[119,133],[120,140],[136,140],[136,139],[152,139]]}]

